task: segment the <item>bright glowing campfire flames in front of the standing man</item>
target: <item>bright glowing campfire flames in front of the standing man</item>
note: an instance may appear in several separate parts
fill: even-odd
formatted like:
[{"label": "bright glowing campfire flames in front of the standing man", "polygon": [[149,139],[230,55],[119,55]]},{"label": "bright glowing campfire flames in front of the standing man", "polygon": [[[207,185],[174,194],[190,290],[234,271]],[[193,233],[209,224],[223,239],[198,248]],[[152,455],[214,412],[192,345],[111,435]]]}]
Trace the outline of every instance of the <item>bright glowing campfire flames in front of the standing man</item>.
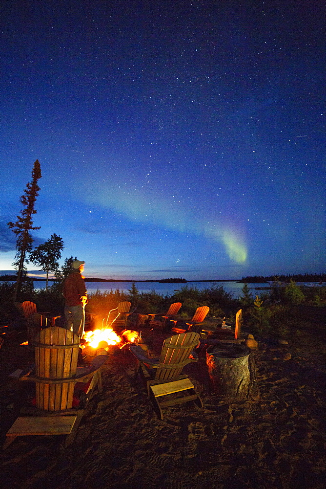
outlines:
[{"label": "bright glowing campfire flames in front of the standing man", "polygon": [[137,331],[124,330],[118,335],[112,328],[102,328],[94,331],[85,331],[82,335],[84,340],[81,344],[83,353],[89,356],[95,356],[96,351],[104,349],[110,350],[112,346],[122,350],[123,347],[130,343],[139,343],[141,338]]}]

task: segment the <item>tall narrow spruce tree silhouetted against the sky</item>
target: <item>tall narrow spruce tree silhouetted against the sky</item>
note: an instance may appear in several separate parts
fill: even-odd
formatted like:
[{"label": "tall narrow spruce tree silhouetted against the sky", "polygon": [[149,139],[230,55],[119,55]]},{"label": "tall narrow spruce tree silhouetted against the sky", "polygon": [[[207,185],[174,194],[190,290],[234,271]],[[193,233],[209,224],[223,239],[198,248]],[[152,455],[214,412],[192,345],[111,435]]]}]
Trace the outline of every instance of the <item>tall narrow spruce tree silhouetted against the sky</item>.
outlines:
[{"label": "tall narrow spruce tree silhouetted against the sky", "polygon": [[17,236],[16,255],[15,261],[13,262],[13,266],[18,270],[15,300],[17,299],[17,294],[20,290],[23,272],[26,270],[24,263],[28,263],[26,253],[32,250],[33,238],[30,232],[40,229],[41,227],[33,226],[32,219],[33,214],[36,214],[37,212],[34,206],[40,190],[38,185],[39,178],[41,178],[41,166],[37,159],[32,170],[32,181],[27,183],[26,188],[24,189],[24,194],[20,197],[20,202],[23,204],[24,208],[20,211],[20,215],[17,216],[16,222],[10,221],[7,224]]}]

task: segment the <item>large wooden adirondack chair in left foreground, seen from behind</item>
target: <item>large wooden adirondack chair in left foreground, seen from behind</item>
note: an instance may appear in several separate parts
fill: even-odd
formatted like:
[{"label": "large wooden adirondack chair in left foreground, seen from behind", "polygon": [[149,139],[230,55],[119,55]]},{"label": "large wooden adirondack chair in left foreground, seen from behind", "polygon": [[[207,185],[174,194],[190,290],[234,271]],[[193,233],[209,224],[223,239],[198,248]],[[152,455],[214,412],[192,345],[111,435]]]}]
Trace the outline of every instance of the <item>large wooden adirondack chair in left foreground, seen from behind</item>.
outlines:
[{"label": "large wooden adirondack chair in left foreground, seen from behind", "polygon": [[[7,432],[3,449],[22,435],[67,435],[65,446],[72,443],[88,400],[96,390],[102,392],[100,368],[107,359],[99,355],[90,367],[77,368],[79,344],[79,336],[65,328],[53,326],[38,333],[35,375],[21,378],[36,384],[36,405],[23,410],[36,416],[19,417]],[[77,405],[76,384],[83,392],[83,406]]]}]

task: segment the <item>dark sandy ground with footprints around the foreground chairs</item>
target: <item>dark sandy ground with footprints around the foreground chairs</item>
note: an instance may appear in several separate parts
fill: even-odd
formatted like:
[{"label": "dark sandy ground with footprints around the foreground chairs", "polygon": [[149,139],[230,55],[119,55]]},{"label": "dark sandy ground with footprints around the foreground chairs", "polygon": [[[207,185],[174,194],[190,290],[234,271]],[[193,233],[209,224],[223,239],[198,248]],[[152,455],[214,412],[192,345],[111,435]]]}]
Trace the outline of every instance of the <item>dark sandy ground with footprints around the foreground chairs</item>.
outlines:
[{"label": "dark sandy ground with footprints around the foreground chairs", "polygon": [[[133,379],[130,352],[110,356],[102,370],[103,393],[88,404],[74,443],[63,448],[60,436],[17,438],[1,453],[2,487],[322,489],[323,328],[321,321],[310,321],[288,345],[259,340],[255,359],[261,396],[255,402],[219,400],[202,355],[184,370],[204,409],[192,403],[165,409],[163,421]],[[163,338],[143,335],[153,352],[160,350]],[[33,361],[19,346],[20,338],[9,335],[0,353],[1,443],[32,385],[8,378]],[[286,353],[292,358],[284,361]]]}]

